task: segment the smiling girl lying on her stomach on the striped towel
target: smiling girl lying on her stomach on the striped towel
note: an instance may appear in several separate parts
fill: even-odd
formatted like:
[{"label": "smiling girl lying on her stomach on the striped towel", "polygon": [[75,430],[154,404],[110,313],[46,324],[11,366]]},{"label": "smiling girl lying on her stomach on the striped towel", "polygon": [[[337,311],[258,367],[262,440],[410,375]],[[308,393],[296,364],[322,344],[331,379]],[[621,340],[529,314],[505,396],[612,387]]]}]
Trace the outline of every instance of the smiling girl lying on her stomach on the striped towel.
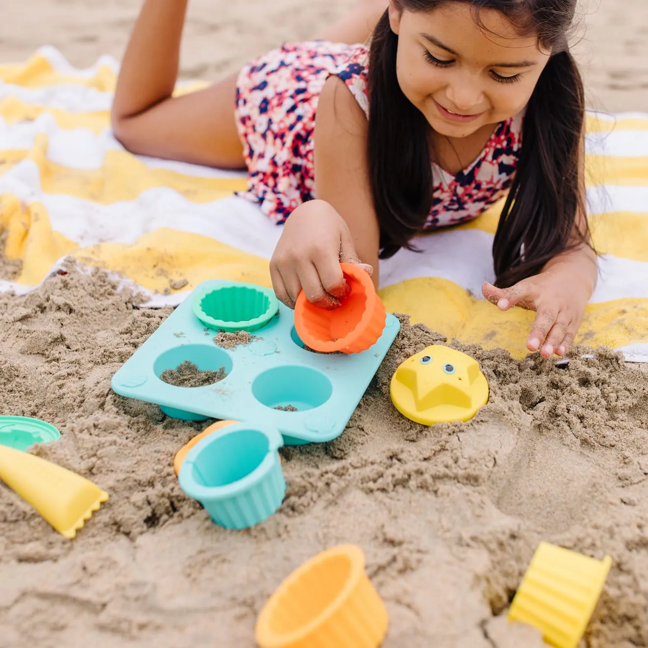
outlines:
[{"label": "smiling girl lying on her stomach on the striped towel", "polygon": [[135,153],[248,168],[246,195],[284,224],[270,272],[291,307],[300,290],[336,306],[340,261],[377,286],[378,259],[508,192],[483,294],[537,311],[529,350],[563,355],[596,283],[576,1],[361,0],[323,40],[172,98],[187,0],[145,0],[113,128]]}]

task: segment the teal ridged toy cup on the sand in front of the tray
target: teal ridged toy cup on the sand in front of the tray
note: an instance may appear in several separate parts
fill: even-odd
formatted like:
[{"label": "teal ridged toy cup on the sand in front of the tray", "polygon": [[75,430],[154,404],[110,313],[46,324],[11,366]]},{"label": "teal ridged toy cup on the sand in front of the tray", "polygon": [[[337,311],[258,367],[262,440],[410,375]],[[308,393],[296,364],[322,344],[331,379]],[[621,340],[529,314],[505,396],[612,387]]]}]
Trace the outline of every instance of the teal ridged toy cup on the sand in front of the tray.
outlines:
[{"label": "teal ridged toy cup on the sand in front of the tray", "polygon": [[283,502],[281,433],[265,425],[237,423],[213,432],[187,454],[180,488],[226,529],[246,529],[270,517]]}]

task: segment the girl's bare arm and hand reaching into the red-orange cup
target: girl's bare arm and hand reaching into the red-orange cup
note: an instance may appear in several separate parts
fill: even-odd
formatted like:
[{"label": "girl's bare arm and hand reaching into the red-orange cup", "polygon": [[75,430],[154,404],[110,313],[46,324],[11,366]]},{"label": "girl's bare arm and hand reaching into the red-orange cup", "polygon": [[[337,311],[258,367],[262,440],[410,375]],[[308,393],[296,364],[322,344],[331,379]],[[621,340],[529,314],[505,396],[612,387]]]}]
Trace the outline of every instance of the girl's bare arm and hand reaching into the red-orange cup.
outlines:
[{"label": "girl's bare arm and hand reaching into the red-orange cup", "polygon": [[309,301],[335,306],[345,296],[340,261],[373,267],[378,286],[380,228],[367,166],[367,118],[336,76],[327,80],[315,125],[318,200],[290,214],[270,262],[275,292],[294,305],[303,288]]}]

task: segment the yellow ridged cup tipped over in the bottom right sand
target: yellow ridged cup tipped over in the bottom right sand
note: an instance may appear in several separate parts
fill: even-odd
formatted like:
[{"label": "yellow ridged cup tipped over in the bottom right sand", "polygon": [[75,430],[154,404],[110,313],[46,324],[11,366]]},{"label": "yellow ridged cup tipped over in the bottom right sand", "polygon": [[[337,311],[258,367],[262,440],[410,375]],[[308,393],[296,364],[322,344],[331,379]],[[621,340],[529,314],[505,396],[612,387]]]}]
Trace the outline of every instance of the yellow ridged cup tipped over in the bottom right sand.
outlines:
[{"label": "yellow ridged cup tipped over in the bottom right sand", "polygon": [[509,621],[537,628],[555,648],[576,648],[611,564],[609,556],[597,561],[541,542],[511,603]]}]

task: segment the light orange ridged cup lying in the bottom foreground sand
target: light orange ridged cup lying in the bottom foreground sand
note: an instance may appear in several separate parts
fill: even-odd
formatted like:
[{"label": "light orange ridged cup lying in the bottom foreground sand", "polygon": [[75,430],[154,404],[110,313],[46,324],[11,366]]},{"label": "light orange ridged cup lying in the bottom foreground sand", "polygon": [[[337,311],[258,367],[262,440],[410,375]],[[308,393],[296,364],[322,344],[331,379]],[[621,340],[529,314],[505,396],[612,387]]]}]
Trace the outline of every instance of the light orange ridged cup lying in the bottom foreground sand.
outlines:
[{"label": "light orange ridged cup lying in the bottom foreground sand", "polygon": [[281,583],[261,610],[261,648],[377,648],[387,609],[365,573],[362,550],[343,544],[318,553]]}]

